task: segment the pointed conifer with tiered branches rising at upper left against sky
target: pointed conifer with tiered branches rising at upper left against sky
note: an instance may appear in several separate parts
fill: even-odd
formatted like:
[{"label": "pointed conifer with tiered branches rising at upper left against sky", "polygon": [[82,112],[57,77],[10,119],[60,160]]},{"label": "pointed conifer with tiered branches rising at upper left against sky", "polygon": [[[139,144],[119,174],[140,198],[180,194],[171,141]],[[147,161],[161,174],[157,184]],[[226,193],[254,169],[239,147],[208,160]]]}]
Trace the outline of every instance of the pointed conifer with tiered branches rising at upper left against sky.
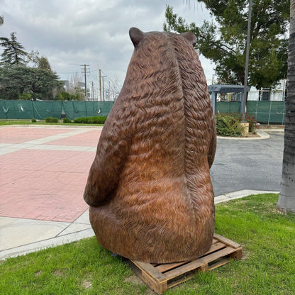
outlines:
[{"label": "pointed conifer with tiered branches rising at upper left against sky", "polygon": [[16,40],[16,32],[11,33],[11,38],[0,37],[0,45],[4,48],[1,53],[2,66],[26,65],[28,53],[23,45]]}]

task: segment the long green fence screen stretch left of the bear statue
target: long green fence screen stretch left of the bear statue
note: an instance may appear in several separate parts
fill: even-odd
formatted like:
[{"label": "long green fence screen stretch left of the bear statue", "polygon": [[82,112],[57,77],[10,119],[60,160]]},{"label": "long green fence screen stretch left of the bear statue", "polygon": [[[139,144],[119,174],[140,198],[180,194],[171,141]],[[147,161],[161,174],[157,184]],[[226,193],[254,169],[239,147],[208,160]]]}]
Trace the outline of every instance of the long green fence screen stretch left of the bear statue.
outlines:
[{"label": "long green fence screen stretch left of the bear statue", "polygon": [[0,100],[0,119],[39,119],[108,116],[113,101],[13,101]]}]

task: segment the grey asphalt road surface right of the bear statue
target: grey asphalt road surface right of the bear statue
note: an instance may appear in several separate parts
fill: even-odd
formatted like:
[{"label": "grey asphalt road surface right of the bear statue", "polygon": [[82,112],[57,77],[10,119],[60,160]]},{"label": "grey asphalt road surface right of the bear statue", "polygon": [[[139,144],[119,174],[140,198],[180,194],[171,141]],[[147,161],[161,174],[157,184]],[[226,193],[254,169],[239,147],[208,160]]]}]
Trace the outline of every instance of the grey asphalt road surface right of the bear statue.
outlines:
[{"label": "grey asphalt road surface right of the bear statue", "polygon": [[284,132],[267,134],[270,138],[260,140],[217,139],[211,167],[215,196],[242,189],[279,191]]}]

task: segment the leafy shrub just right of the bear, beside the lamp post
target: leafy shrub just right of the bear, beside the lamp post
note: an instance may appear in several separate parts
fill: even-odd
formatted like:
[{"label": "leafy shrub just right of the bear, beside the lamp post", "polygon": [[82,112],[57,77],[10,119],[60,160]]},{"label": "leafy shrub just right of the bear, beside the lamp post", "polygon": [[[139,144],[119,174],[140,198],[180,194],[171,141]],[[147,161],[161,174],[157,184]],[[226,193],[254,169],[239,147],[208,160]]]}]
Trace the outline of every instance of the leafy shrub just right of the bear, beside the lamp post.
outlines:
[{"label": "leafy shrub just right of the bear, beside the lamp post", "polygon": [[216,115],[216,134],[221,136],[242,136],[243,128],[240,126],[240,116],[237,114],[221,113]]}]

